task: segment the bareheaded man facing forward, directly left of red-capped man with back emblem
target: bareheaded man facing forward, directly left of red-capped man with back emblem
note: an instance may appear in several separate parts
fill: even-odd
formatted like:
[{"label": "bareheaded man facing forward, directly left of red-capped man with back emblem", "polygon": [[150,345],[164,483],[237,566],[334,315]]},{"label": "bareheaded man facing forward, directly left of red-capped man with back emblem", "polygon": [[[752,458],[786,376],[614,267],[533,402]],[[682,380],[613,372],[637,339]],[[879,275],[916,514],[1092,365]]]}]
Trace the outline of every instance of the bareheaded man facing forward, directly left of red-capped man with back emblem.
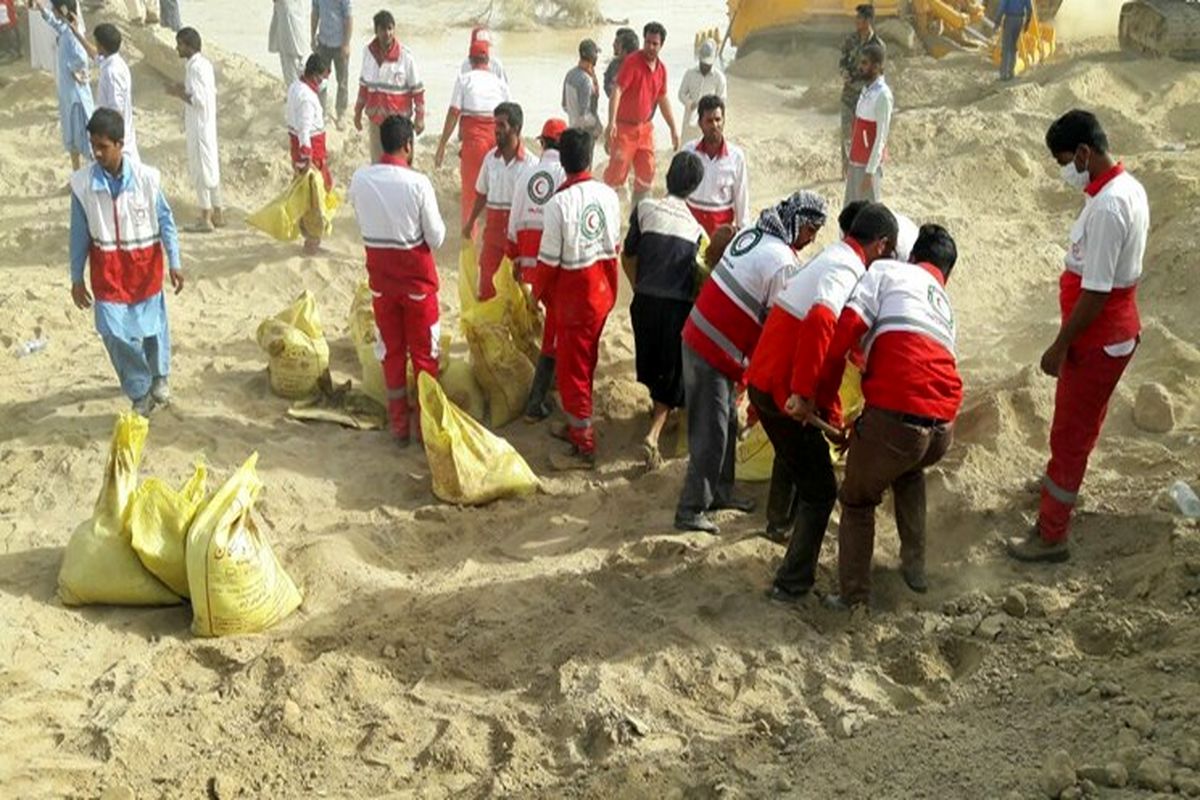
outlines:
[{"label": "bareheaded man facing forward, directly left of red-capped man with back emblem", "polygon": [[475,205],[462,227],[462,237],[468,240],[475,228],[475,219],[487,209],[484,222],[484,242],[479,248],[479,285],[475,296],[491,300],[496,296],[496,273],[504,258],[515,258],[509,246],[509,216],[517,179],[529,163],[524,144],[521,143],[521,126],[524,114],[516,103],[500,103],[493,114],[496,149],[484,158],[475,181]]}]

